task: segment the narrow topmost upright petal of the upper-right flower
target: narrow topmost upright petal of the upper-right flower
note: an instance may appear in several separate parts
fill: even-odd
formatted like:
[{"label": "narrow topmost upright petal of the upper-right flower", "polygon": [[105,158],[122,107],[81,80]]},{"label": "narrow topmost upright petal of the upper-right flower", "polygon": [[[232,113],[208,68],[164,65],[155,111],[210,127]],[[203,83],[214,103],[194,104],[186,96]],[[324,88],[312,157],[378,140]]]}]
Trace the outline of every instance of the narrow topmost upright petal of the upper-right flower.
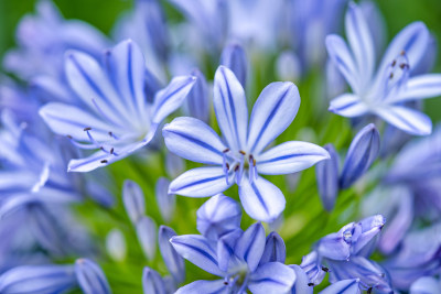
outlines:
[{"label": "narrow topmost upright petal of the upper-right flower", "polygon": [[364,92],[368,90],[374,74],[375,47],[362,10],[353,2],[345,15],[345,29],[361,77],[359,90]]}]

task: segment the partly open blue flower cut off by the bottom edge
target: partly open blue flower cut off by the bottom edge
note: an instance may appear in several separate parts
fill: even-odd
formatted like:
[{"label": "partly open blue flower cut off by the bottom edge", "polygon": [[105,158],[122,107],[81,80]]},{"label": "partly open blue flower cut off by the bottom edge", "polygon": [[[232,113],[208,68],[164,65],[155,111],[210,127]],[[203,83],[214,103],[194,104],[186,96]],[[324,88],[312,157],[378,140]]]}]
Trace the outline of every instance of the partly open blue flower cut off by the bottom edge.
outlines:
[{"label": "partly open blue flower cut off by the bottom edge", "polygon": [[236,230],[209,241],[197,235],[171,239],[176,251],[201,269],[223,277],[216,281],[196,281],[176,293],[286,293],[295,282],[292,269],[278,261],[265,262],[265,229],[255,224],[245,232]]}]

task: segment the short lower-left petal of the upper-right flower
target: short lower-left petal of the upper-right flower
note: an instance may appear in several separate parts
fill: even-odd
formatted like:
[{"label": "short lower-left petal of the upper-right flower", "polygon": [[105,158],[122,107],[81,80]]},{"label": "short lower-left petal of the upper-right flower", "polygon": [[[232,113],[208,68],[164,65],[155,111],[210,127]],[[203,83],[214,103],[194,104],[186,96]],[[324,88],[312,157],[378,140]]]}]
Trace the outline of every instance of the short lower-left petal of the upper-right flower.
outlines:
[{"label": "short lower-left petal of the upper-right flower", "polygon": [[345,92],[332,99],[327,110],[342,117],[356,118],[366,115],[369,108],[359,96]]}]

